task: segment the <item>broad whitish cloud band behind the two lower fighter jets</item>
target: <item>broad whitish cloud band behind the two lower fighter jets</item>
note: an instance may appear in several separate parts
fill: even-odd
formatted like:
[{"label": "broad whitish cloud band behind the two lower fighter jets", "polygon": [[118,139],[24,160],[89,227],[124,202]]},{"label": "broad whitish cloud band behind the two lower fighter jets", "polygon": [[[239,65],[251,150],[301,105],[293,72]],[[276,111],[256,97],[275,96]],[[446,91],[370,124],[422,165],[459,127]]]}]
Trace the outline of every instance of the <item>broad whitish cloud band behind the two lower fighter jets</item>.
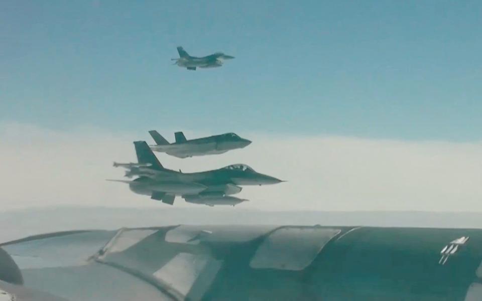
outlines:
[{"label": "broad whitish cloud band behind the two lower fighter jets", "polygon": [[[160,132],[169,139],[173,131]],[[239,197],[250,202],[239,207],[247,209],[482,211],[482,143],[239,134],[254,142],[219,156],[180,160],[158,154],[158,158],[166,168],[183,172],[245,163],[288,181],[245,187]],[[151,143],[147,131],[83,128],[67,132],[2,123],[1,208],[169,208],[132,193],[127,185],[105,181],[123,177],[124,171],[113,168],[112,162],[135,162],[132,141],[140,139]],[[178,198],[175,206],[199,205]]]}]

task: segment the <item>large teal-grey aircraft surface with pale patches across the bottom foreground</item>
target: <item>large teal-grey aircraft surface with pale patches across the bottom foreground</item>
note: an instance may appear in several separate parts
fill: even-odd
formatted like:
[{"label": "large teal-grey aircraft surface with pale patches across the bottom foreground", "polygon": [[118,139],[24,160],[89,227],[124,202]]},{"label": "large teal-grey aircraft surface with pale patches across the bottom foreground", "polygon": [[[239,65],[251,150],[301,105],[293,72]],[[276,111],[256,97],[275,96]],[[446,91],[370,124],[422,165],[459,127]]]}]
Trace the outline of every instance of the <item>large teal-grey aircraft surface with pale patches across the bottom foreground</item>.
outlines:
[{"label": "large teal-grey aircraft surface with pale patches across the bottom foreground", "polygon": [[10,300],[482,300],[479,229],[180,225],[1,246],[23,278],[0,278]]}]

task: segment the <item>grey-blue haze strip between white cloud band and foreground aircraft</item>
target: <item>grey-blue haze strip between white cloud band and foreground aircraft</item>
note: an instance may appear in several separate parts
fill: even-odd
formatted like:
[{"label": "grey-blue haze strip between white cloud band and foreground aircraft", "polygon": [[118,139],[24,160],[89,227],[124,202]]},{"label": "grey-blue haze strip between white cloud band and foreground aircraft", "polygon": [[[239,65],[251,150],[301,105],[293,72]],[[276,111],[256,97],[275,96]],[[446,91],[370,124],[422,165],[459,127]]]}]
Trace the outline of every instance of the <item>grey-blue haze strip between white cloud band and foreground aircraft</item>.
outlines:
[{"label": "grey-blue haze strip between white cloud band and foreground aircraft", "polygon": [[48,207],[0,212],[0,243],[70,230],[188,225],[298,225],[482,229],[482,212],[262,211],[219,208]]}]

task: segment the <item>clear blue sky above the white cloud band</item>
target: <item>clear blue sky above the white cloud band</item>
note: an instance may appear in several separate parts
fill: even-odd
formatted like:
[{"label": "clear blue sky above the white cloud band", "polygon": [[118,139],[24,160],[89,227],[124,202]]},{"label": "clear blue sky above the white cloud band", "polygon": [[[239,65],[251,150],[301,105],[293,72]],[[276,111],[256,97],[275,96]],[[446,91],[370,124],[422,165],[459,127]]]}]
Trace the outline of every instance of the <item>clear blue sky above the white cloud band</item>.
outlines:
[{"label": "clear blue sky above the white cloud band", "polygon": [[[482,138],[479,1],[0,3],[0,121]],[[222,68],[170,65],[175,47]]]}]

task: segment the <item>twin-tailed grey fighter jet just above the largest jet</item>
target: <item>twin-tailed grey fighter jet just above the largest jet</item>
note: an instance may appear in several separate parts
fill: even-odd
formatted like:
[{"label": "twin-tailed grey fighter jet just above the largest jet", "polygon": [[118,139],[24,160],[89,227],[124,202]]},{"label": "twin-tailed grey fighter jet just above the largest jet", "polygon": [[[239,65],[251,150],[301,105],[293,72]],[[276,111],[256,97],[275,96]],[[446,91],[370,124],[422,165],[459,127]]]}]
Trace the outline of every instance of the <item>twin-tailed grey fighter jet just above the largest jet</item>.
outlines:
[{"label": "twin-tailed grey fighter jet just above the largest jet", "polygon": [[174,143],[169,143],[156,130],[150,130],[149,133],[156,142],[155,145],[149,145],[152,150],[177,158],[223,154],[228,150],[243,148],[251,144],[250,140],[241,138],[235,133],[187,140],[182,132],[175,132],[176,142]]}]

